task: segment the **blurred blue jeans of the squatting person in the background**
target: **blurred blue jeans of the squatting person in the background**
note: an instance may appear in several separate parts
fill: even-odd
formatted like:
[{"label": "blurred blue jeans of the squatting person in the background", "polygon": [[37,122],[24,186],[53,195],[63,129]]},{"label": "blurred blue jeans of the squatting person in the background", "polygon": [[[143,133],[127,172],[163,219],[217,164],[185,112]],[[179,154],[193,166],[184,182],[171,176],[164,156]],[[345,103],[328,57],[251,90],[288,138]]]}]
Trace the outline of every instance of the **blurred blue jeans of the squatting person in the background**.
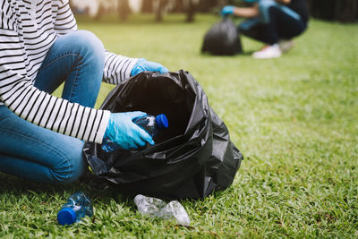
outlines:
[{"label": "blurred blue jeans of the squatting person in the background", "polygon": [[243,21],[239,31],[268,45],[280,39],[291,39],[303,33],[307,23],[298,13],[274,0],[260,0],[260,16]]}]

